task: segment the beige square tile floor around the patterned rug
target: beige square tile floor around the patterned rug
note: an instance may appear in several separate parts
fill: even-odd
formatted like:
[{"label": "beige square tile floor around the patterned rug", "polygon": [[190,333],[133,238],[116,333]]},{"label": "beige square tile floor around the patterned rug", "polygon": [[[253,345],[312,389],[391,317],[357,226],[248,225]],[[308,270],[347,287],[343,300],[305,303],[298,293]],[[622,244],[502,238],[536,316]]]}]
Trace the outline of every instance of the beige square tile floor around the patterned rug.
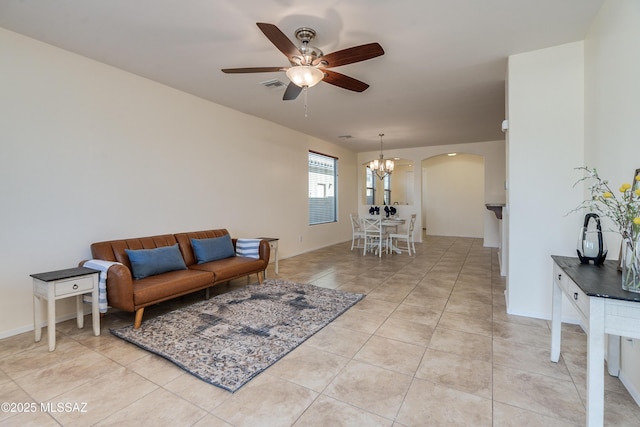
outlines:
[{"label": "beige square tile floor around the patterned rug", "polygon": [[[506,314],[495,249],[427,237],[414,257],[379,259],[349,246],[282,260],[279,277],[366,298],[235,394],[115,338],[109,328],[133,315],[112,312],[99,337],[74,320],[58,324],[52,353],[46,331],[40,343],[32,332],[0,341],[0,401],[36,404],[0,412],[0,425],[584,425],[584,333],[563,325],[563,354],[551,363],[549,322]],[[605,376],[605,424],[640,425],[640,408]]]}]

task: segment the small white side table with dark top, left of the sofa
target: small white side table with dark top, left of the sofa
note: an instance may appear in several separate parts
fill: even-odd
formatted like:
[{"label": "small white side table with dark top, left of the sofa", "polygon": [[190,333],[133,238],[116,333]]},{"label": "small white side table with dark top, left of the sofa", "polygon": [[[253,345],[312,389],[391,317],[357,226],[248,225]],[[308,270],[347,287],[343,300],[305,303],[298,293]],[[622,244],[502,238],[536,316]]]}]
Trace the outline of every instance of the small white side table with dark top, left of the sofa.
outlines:
[{"label": "small white side table with dark top, left of the sofa", "polygon": [[78,328],[84,327],[82,295],[91,294],[91,318],[93,334],[100,335],[100,314],[98,312],[99,271],[77,267],[65,270],[32,274],[33,277],[33,327],[36,342],[42,337],[42,299],[47,300],[47,322],[49,351],[56,348],[56,300],[76,297]]}]

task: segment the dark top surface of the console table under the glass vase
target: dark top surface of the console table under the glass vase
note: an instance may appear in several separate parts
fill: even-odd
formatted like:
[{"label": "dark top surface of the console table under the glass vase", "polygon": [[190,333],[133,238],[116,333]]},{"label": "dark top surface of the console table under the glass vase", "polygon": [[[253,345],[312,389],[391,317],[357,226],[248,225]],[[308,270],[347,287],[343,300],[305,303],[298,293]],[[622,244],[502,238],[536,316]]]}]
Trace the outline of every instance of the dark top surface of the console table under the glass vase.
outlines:
[{"label": "dark top surface of the console table under the glass vase", "polygon": [[622,289],[622,273],[618,261],[602,265],[582,264],[578,258],[551,255],[551,258],[590,297],[640,302],[640,294]]}]

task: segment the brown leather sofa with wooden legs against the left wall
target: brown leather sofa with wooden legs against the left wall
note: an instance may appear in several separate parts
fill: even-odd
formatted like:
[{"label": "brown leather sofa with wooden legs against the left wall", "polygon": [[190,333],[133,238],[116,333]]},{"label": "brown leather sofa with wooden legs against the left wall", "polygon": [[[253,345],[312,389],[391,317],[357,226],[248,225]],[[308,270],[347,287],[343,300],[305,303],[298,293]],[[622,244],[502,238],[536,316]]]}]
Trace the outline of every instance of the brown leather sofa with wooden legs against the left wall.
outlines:
[{"label": "brown leather sofa with wooden legs against the left wall", "polygon": [[[93,243],[91,254],[94,259],[122,264],[114,264],[107,271],[109,306],[135,312],[134,328],[137,329],[142,324],[145,307],[150,305],[254,273],[258,276],[258,282],[262,283],[270,256],[269,242],[266,240],[260,242],[258,259],[233,256],[204,264],[196,263],[191,238],[207,239],[228,234],[226,229],[219,229]],[[232,239],[234,248],[236,240]],[[155,249],[176,243],[187,266],[186,270],[169,271],[143,279],[133,278],[131,262],[125,249]]]}]

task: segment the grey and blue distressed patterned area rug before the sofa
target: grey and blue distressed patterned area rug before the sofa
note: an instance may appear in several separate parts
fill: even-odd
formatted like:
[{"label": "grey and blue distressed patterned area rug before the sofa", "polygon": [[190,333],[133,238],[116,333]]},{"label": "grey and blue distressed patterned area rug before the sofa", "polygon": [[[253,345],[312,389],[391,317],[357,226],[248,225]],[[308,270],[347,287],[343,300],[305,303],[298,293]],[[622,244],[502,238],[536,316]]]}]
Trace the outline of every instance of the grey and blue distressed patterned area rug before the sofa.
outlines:
[{"label": "grey and blue distressed patterned area rug before the sofa", "polygon": [[363,297],[267,279],[111,333],[235,392]]}]

